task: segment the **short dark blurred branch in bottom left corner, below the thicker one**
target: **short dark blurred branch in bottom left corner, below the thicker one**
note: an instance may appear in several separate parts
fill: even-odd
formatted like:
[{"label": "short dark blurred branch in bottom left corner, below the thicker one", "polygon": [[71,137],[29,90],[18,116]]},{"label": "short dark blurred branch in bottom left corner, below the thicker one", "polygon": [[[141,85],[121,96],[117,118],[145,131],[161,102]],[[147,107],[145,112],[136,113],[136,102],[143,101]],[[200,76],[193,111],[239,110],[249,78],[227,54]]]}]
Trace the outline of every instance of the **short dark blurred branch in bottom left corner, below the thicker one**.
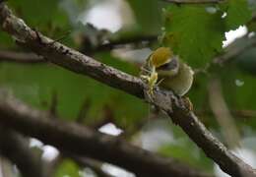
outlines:
[{"label": "short dark blurred branch in bottom left corner, below the thicker one", "polygon": [[18,133],[0,125],[0,154],[10,159],[24,177],[43,177],[40,159]]}]

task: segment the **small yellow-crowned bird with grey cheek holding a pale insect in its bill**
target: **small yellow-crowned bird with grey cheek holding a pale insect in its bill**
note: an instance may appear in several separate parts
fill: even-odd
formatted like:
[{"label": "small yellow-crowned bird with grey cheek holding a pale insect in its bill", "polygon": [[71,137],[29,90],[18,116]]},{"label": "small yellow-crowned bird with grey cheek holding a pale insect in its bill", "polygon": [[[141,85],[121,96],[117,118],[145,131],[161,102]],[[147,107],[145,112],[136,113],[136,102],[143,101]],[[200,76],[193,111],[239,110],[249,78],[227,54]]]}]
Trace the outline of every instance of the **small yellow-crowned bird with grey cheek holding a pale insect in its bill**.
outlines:
[{"label": "small yellow-crowned bird with grey cheek holding a pale insect in its bill", "polygon": [[179,96],[185,95],[194,80],[192,68],[174,55],[169,47],[159,47],[151,53],[141,68],[141,78],[148,84],[148,93],[154,88],[171,89]]}]

